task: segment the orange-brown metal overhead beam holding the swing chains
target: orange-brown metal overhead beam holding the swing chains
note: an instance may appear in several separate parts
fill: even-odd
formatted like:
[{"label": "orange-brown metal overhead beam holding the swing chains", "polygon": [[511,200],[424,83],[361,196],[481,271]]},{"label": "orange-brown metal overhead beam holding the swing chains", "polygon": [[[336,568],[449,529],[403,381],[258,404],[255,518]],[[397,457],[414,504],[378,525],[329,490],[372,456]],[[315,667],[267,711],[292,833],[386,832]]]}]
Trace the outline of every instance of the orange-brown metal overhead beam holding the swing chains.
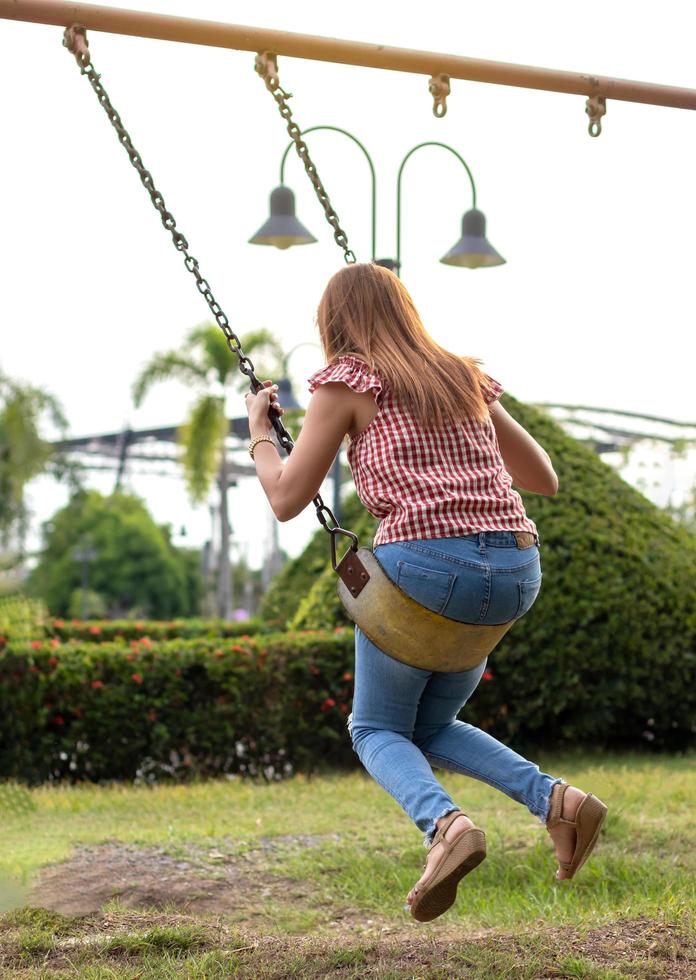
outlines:
[{"label": "orange-brown metal overhead beam holding the swing chains", "polygon": [[621,102],[640,102],[675,109],[696,109],[694,89],[534,68],[530,65],[511,65],[502,61],[481,61],[433,51],[393,48],[385,44],[291,34],[261,27],[100,7],[98,4],[65,3],[61,0],[0,0],[0,17],[56,27],[84,24],[88,30],[109,34],[182,41],[237,51],[273,51],[291,58],[358,65],[362,68],[383,68],[426,76],[444,73],[451,78],[471,82],[543,89],[568,95],[594,95]]}]

